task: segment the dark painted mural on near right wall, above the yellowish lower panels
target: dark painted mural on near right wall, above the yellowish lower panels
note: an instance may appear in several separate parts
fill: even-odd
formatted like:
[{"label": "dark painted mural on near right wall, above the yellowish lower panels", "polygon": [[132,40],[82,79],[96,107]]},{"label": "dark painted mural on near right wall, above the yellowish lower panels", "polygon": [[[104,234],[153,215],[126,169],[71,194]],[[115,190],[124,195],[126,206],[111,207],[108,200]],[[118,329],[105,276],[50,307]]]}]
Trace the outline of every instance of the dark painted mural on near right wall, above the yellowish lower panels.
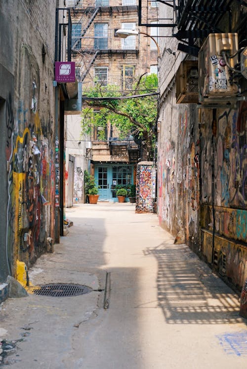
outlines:
[{"label": "dark painted mural on near right wall, above the yellowish lower panels", "polygon": [[207,179],[202,186],[202,201],[244,209],[247,205],[247,103],[242,103],[239,115],[233,109],[217,111],[214,133],[208,128],[210,120],[214,121],[212,114],[202,129],[201,170],[202,178]]}]

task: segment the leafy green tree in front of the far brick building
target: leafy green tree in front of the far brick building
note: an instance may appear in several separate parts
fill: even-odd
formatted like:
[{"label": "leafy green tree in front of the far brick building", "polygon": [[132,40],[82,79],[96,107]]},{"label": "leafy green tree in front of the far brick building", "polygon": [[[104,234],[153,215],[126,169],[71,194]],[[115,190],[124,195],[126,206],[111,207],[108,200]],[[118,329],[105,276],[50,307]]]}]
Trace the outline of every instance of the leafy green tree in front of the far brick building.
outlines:
[{"label": "leafy green tree in front of the far brick building", "polygon": [[[133,84],[133,90],[123,93],[118,86],[100,86],[96,84],[83,97],[97,98],[84,100],[82,110],[82,133],[90,134],[94,127],[101,127],[99,139],[106,139],[105,128],[108,123],[116,127],[119,138],[124,139],[131,134],[135,140],[142,143],[143,148],[153,157],[156,136],[158,108],[158,77],[149,74],[139,78]],[[149,96],[131,97],[133,95]],[[113,97],[118,99],[112,99]],[[125,97],[125,98],[124,98]],[[131,97],[131,98],[130,98]],[[102,100],[101,100],[102,98]],[[108,99],[104,99],[108,98]],[[95,111],[93,108],[99,108]]]}]

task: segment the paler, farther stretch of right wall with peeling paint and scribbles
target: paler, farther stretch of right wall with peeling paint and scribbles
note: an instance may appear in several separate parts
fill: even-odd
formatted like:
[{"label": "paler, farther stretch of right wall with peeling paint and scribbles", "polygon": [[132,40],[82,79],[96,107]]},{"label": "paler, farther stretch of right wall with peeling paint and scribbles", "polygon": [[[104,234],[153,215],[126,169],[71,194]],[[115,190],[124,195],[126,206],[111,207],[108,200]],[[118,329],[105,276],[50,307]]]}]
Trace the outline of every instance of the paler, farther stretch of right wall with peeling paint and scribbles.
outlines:
[{"label": "paler, farther stretch of right wall with peeling paint and scribbles", "polygon": [[176,105],[175,91],[161,108],[158,215],[161,226],[194,249],[199,244],[199,130],[194,105]]}]

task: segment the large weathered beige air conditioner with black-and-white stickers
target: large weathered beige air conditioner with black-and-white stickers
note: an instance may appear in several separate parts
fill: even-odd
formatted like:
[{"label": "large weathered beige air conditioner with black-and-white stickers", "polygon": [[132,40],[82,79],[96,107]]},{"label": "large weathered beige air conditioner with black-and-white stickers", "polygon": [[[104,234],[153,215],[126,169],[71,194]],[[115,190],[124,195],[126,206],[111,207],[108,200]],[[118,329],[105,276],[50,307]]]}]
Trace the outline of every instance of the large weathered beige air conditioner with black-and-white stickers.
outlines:
[{"label": "large weathered beige air conditioner with black-and-white stickers", "polygon": [[[231,80],[222,51],[233,55],[238,50],[238,34],[209,34],[198,55],[199,102],[212,103],[216,98],[223,101],[233,99],[238,92]],[[228,58],[229,65],[234,68],[238,56]]]}]

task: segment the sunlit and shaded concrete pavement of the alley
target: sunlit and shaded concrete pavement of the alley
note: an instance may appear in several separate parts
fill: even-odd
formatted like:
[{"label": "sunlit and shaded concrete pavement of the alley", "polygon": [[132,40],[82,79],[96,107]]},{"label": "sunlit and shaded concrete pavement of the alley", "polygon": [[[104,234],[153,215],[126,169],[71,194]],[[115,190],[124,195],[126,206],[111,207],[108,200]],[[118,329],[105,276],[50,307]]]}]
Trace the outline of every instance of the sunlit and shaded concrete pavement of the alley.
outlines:
[{"label": "sunlit and shaded concrete pavement of the alley", "polygon": [[30,282],[91,292],[4,301],[3,368],[246,368],[238,295],[185,244],[173,244],[157,215],[98,203],[66,216],[74,225],[29,270]]}]

